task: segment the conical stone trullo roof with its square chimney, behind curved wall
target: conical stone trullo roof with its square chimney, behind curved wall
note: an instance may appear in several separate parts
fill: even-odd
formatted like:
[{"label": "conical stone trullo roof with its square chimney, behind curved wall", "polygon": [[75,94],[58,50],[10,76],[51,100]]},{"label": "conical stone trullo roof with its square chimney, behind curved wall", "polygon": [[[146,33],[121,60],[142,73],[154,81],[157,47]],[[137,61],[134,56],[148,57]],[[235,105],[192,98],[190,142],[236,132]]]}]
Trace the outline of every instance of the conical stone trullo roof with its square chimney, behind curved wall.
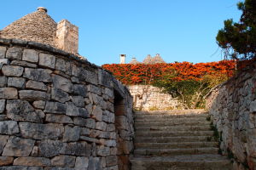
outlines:
[{"label": "conical stone trullo roof with its square chimney, behind curved wall", "polygon": [[6,26],[0,37],[49,44],[71,54],[78,54],[79,49],[79,28],[68,20],[55,23],[43,7]]}]

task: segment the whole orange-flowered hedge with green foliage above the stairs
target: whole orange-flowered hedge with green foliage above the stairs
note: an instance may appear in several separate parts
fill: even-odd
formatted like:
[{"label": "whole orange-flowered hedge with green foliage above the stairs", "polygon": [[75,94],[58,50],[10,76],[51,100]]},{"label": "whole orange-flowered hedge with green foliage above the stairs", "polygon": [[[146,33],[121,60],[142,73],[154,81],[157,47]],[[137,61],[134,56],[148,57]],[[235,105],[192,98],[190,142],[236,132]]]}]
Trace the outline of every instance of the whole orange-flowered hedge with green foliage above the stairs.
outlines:
[{"label": "whole orange-flowered hedge with green foliage above the stairs", "polygon": [[204,95],[220,82],[232,77],[235,60],[170,64],[112,64],[102,67],[126,85],[143,84],[162,88],[163,92],[180,99],[185,108],[204,107]]}]

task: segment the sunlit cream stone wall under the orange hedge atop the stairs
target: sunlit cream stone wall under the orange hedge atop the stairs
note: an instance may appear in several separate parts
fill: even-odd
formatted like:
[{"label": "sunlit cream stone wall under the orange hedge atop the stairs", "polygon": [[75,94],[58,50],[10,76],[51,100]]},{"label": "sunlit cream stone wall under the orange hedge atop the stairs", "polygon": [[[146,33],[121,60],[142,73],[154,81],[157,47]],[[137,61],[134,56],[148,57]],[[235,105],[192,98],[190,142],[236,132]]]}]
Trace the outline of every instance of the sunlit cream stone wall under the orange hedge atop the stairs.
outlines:
[{"label": "sunlit cream stone wall under the orange hedge atop the stairs", "polygon": [[160,88],[150,85],[127,86],[133,96],[133,107],[140,111],[183,109],[172,95],[164,94]]}]

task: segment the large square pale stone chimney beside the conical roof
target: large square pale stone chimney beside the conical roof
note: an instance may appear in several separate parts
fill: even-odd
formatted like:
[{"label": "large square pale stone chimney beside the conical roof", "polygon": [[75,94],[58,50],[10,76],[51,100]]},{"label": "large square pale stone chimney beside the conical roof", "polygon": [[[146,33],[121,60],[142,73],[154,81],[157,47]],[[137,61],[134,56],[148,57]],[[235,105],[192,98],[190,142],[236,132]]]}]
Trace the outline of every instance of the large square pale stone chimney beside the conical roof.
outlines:
[{"label": "large square pale stone chimney beside the conical roof", "polygon": [[61,20],[56,31],[56,46],[71,54],[79,53],[79,27]]}]

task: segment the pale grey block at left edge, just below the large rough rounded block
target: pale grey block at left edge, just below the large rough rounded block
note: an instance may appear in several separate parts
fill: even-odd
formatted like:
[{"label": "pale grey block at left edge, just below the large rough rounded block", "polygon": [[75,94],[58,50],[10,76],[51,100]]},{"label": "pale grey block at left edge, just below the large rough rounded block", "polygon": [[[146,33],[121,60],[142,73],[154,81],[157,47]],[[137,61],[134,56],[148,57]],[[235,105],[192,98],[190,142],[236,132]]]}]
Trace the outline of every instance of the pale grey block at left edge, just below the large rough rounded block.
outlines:
[{"label": "pale grey block at left edge, just below the large rough rounded block", "polygon": [[15,134],[19,133],[19,127],[15,121],[2,121],[0,122],[0,133],[1,134]]}]

